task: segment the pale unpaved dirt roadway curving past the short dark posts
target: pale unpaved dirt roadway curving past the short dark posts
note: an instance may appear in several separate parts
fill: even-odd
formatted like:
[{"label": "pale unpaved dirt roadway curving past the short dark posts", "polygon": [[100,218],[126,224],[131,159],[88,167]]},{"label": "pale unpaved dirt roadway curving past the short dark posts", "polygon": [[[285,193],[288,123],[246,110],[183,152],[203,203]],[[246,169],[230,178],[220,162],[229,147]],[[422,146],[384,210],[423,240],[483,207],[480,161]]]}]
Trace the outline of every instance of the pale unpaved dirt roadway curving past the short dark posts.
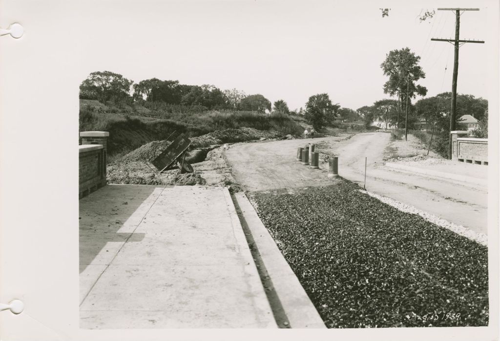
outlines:
[{"label": "pale unpaved dirt roadway curving past the short dark posts", "polygon": [[[340,137],[239,143],[226,151],[236,180],[249,191],[292,189],[331,184],[328,165],[320,155],[320,169],[295,160],[298,147],[317,143],[319,151],[339,157],[339,175],[364,183],[366,190],[436,215],[475,232],[487,233],[487,188],[424,175],[398,172],[383,166],[390,134],[360,133]],[[480,166],[480,165],[478,165]]]}]

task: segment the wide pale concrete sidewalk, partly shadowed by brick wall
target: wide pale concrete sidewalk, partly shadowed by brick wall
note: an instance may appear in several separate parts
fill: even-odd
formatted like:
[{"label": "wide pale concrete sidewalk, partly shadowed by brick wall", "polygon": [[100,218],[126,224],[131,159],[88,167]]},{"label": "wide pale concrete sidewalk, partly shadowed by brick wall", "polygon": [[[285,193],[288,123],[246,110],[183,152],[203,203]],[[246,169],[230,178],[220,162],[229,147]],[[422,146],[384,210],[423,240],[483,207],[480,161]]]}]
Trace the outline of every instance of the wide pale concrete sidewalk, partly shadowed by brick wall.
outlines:
[{"label": "wide pale concrete sidewalk, partly shadowed by brick wall", "polygon": [[227,189],[81,199],[80,328],[276,328]]}]

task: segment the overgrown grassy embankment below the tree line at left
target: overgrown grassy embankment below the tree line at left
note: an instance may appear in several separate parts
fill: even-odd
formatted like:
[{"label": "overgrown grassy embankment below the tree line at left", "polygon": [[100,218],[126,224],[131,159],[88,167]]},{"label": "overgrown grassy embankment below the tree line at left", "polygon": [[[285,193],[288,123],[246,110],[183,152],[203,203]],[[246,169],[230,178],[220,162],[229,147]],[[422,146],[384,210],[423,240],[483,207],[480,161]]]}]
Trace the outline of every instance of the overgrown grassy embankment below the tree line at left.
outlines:
[{"label": "overgrown grassy embankment below the tree line at left", "polygon": [[[123,110],[123,113],[116,113]],[[133,111],[135,110],[135,111]],[[253,111],[195,111],[193,107],[106,106],[97,101],[80,100],[80,131],[108,131],[109,161],[141,145],[164,140],[174,131],[188,137],[217,130],[242,127],[273,131],[279,136],[300,136],[303,117],[261,114]],[[240,141],[240,140],[238,140]],[[236,141],[224,141],[236,142]],[[114,157],[113,157],[114,156]]]}]

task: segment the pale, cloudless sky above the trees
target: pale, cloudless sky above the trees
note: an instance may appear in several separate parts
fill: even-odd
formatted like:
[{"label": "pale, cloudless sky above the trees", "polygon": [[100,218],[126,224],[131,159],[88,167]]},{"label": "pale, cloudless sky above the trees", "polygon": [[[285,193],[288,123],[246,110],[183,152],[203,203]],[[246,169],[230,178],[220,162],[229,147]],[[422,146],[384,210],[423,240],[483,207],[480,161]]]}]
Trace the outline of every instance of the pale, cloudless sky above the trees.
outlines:
[{"label": "pale, cloudless sky above the trees", "polygon": [[[409,47],[421,57],[426,77],[417,84],[427,87],[428,97],[451,91],[453,46],[430,38],[453,38],[454,14],[436,10],[418,20],[438,3],[480,7],[460,17],[460,38],[486,43],[460,47],[457,92],[487,99],[488,65],[497,62],[487,41],[491,27],[498,29],[488,13],[491,1],[401,2],[84,1],[81,80],[108,70],[134,82],[213,84],[283,99],[290,109],[326,92],[333,103],[356,109],[388,98],[380,63],[390,50]],[[389,15],[382,18],[380,7],[390,8]]]}]

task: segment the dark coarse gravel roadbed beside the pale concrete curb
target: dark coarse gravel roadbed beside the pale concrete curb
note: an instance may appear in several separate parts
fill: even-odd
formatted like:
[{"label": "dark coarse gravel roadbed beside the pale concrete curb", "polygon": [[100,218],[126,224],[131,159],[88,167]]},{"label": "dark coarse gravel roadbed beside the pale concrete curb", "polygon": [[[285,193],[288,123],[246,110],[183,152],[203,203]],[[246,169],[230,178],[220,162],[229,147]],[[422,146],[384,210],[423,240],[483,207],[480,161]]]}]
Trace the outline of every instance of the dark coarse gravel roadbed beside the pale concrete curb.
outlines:
[{"label": "dark coarse gravel roadbed beside the pale concrete curb", "polygon": [[326,326],[487,326],[487,249],[358,189],[255,194]]}]

